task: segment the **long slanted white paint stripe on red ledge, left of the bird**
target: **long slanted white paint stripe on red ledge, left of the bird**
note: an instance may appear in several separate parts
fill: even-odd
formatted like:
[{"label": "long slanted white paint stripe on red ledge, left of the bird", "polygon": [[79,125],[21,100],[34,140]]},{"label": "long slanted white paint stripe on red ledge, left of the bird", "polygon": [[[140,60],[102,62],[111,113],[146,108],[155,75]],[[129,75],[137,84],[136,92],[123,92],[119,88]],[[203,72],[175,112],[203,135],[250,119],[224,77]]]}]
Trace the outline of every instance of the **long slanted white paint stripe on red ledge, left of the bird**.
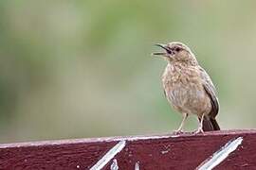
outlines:
[{"label": "long slanted white paint stripe on red ledge, left of the bird", "polygon": [[120,141],[114,147],[112,147],[102,158],[98,161],[90,170],[100,170],[104,167],[109,161],[111,161],[125,146],[125,141]]}]

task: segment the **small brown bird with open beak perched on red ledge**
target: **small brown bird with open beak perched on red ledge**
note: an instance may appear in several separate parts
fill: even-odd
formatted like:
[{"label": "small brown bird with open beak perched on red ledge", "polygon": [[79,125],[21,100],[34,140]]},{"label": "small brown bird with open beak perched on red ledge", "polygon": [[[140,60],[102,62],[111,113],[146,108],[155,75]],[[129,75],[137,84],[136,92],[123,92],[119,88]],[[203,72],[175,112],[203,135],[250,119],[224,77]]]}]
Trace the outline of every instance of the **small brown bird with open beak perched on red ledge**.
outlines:
[{"label": "small brown bird with open beak perched on red ledge", "polygon": [[164,52],[153,55],[163,57],[168,62],[162,75],[164,93],[174,110],[183,115],[176,133],[182,132],[189,114],[198,116],[199,125],[195,133],[219,130],[215,119],[219,111],[215,87],[191,49],[181,42],[155,45],[163,48]]}]

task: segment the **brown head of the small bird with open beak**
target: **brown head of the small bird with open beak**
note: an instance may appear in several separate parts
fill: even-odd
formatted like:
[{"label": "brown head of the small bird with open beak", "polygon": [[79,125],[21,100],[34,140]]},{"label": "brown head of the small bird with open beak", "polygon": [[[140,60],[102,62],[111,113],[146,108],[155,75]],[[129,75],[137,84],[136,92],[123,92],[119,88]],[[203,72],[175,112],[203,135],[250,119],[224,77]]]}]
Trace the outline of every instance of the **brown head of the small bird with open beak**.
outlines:
[{"label": "brown head of the small bird with open beak", "polygon": [[163,57],[170,62],[181,61],[181,62],[195,62],[196,59],[192,54],[191,49],[182,42],[169,42],[167,44],[156,43],[156,46],[164,49],[163,52],[156,52],[153,55]]}]

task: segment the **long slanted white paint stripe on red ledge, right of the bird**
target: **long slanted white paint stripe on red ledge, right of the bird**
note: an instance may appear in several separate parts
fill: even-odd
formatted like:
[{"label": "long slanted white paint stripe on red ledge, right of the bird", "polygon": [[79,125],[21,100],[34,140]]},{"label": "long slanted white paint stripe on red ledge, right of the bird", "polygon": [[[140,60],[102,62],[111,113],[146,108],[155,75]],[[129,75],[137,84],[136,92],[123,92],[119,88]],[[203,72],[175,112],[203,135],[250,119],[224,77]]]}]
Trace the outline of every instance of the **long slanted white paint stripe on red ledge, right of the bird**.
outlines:
[{"label": "long slanted white paint stripe on red ledge, right of the bird", "polygon": [[242,144],[243,137],[238,137],[235,140],[229,141],[229,143],[225,144],[215,152],[210,159],[203,161],[196,169],[197,170],[210,170],[217,166],[220,162],[224,161],[231,152],[233,152],[238,145]]}]

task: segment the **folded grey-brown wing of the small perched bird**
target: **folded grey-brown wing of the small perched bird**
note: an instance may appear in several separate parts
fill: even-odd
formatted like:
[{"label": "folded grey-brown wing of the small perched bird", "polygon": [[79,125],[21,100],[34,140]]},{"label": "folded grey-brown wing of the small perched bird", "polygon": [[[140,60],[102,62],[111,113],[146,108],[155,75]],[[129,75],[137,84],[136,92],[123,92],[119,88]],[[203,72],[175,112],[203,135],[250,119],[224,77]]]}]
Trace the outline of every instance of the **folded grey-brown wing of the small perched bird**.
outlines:
[{"label": "folded grey-brown wing of the small perched bird", "polygon": [[210,96],[210,102],[211,102],[211,111],[210,111],[210,117],[215,118],[215,116],[219,112],[219,101],[218,97],[216,95],[216,89],[210,79],[210,76],[207,74],[207,72],[202,68],[199,67],[200,70],[200,76],[203,79],[203,86],[206,91],[206,93]]}]

